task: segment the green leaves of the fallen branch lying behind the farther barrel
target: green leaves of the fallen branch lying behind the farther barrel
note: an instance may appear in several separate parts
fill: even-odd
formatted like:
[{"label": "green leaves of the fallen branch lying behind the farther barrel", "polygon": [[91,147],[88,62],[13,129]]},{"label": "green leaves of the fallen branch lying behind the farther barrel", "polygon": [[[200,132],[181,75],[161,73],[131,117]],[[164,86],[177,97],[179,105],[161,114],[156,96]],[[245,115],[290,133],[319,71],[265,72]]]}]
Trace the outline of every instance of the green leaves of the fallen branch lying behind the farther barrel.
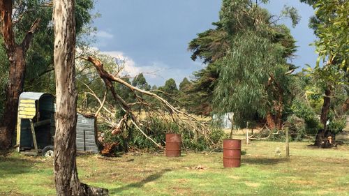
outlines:
[{"label": "green leaves of the fallen branch lying behind the farther barrel", "polygon": [[[140,127],[146,135],[151,137],[157,144],[165,146],[165,135],[166,133],[177,133],[181,134],[182,145],[186,149],[192,149],[195,151],[207,151],[211,147],[207,144],[207,138],[203,135],[198,135],[197,142],[194,141],[194,133],[191,127],[181,123],[174,123],[172,121],[164,120],[155,116],[147,116],[144,119],[142,126]],[[100,130],[104,130],[105,142],[117,142],[119,143],[119,151],[124,151],[126,145],[131,148],[143,149],[148,151],[154,151],[158,147],[145,137],[140,130],[135,128],[133,125],[129,125],[123,133],[119,135],[111,135],[110,130],[103,128],[101,125]],[[224,137],[224,132],[218,128],[212,128],[211,133],[207,135],[212,143],[218,144]]]}]

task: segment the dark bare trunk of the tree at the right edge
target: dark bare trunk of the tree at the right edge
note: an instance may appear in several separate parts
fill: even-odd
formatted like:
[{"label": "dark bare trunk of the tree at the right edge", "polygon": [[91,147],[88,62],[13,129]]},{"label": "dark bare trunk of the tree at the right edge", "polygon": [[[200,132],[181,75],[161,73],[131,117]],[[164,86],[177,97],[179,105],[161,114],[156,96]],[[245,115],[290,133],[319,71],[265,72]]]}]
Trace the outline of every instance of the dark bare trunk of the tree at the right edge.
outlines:
[{"label": "dark bare trunk of the tree at the right edge", "polygon": [[324,96],[324,104],[322,105],[321,109],[321,115],[320,115],[320,121],[322,123],[323,129],[318,130],[318,133],[316,134],[315,137],[315,144],[316,146],[320,146],[321,141],[324,140],[324,135],[327,130],[327,116],[329,113],[329,106],[331,105],[331,96],[332,96],[332,89],[327,87],[325,90],[325,96]]}]

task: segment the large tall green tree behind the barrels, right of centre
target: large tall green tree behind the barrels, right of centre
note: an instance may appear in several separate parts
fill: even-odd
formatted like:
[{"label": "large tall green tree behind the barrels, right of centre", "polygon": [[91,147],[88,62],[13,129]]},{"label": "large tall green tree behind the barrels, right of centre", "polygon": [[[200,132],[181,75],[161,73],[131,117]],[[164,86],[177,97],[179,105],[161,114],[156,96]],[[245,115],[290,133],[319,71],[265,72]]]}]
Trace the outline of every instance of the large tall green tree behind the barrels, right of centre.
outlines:
[{"label": "large tall green tree behind the barrels, right of centre", "polygon": [[[293,24],[299,20],[294,8],[286,8],[283,15]],[[271,128],[281,128],[295,68],[287,63],[296,51],[289,29],[248,0],[223,0],[219,16],[216,29],[199,33],[189,44],[193,60],[209,63],[195,73],[194,89],[214,112],[235,112],[235,123],[241,126],[266,118]]]}]

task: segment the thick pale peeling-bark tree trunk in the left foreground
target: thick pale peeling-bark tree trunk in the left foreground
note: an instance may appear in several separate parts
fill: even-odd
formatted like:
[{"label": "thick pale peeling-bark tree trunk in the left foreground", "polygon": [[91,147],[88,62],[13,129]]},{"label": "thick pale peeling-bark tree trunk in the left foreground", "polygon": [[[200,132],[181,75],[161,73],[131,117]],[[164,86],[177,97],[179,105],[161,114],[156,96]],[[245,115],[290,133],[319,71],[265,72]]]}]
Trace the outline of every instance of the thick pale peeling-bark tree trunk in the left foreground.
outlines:
[{"label": "thick pale peeling-bark tree trunk in the left foreground", "polygon": [[53,3],[57,96],[54,181],[57,195],[107,195],[107,190],[91,188],[80,183],[77,177],[74,0],[54,0]]}]

